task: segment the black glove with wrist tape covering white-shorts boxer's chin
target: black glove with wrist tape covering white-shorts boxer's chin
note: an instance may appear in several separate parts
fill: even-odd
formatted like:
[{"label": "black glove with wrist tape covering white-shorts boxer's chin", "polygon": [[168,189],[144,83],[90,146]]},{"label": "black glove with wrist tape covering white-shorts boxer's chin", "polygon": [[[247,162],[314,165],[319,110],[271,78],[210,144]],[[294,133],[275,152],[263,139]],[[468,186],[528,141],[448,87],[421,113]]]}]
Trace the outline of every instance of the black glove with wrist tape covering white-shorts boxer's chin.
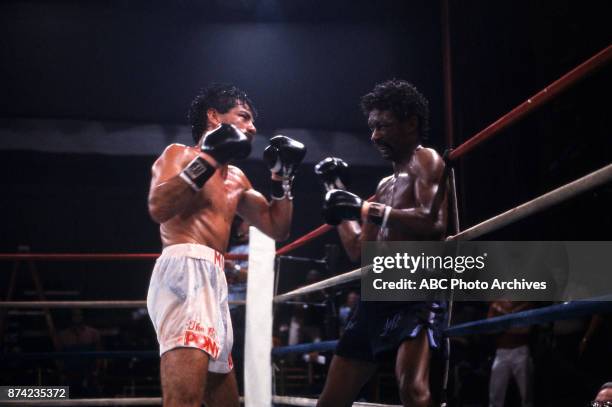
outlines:
[{"label": "black glove with wrist tape covering white-shorts boxer's chin", "polygon": [[[247,136],[231,124],[221,124],[202,136],[200,149],[215,159],[217,165],[239,160],[251,153],[251,142]],[[179,174],[194,191],[202,189],[206,181],[215,173],[217,166],[203,157],[194,158]]]}]

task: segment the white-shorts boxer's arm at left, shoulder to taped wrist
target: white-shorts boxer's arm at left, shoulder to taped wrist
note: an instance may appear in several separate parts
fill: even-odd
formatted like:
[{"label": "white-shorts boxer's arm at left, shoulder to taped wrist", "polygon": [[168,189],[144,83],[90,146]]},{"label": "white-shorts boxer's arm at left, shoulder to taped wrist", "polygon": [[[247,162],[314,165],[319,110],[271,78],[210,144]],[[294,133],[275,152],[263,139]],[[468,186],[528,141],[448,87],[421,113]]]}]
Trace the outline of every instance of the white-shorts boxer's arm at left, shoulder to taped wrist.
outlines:
[{"label": "white-shorts boxer's arm at left, shoulder to taped wrist", "polygon": [[197,156],[194,148],[172,144],[153,164],[148,204],[155,222],[166,222],[181,213],[194,198],[195,191],[180,173]]}]

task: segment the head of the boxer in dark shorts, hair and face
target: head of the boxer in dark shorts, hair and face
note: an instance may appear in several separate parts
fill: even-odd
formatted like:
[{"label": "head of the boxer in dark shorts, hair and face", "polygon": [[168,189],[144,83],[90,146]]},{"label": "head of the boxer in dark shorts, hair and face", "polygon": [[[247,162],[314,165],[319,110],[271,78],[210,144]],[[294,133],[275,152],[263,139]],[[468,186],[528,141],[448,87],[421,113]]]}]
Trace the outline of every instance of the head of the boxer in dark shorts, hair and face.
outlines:
[{"label": "head of the boxer in dark shorts, hair and face", "polygon": [[429,102],[410,83],[392,79],[361,98],[372,141],[386,159],[397,159],[427,137]]}]

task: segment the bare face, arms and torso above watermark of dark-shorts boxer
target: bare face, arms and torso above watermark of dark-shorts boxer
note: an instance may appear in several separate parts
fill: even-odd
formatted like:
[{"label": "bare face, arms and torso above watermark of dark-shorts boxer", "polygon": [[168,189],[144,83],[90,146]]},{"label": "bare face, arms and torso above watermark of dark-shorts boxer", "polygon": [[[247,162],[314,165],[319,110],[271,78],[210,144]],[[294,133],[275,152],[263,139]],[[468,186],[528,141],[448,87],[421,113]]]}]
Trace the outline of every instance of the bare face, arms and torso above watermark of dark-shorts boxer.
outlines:
[{"label": "bare face, arms and torso above watermark of dark-shorts boxer", "polygon": [[[363,230],[354,221],[340,224],[340,237],[353,261],[361,256],[362,241],[440,240],[447,222],[446,185],[439,185],[444,160],[435,150],[420,146],[416,136],[408,136],[414,134],[416,122],[398,122],[390,112],[374,110],[368,123],[372,142],[393,162],[393,175],[380,181],[374,202],[393,209],[386,230],[366,222],[369,202],[362,208]],[[436,193],[442,194],[438,208],[434,205]]]}]

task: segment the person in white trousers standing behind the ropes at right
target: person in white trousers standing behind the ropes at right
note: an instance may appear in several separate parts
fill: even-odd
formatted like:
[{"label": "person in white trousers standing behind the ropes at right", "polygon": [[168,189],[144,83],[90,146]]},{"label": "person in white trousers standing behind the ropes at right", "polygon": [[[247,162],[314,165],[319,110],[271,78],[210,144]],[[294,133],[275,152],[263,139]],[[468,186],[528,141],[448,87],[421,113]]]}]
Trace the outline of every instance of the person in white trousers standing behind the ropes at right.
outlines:
[{"label": "person in white trousers standing behind the ropes at right", "polygon": [[[498,317],[531,307],[529,302],[495,301],[489,307],[488,317]],[[489,407],[503,407],[510,378],[521,394],[523,407],[533,406],[533,362],[529,353],[530,327],[511,328],[496,338],[496,352],[489,382]]]}]

